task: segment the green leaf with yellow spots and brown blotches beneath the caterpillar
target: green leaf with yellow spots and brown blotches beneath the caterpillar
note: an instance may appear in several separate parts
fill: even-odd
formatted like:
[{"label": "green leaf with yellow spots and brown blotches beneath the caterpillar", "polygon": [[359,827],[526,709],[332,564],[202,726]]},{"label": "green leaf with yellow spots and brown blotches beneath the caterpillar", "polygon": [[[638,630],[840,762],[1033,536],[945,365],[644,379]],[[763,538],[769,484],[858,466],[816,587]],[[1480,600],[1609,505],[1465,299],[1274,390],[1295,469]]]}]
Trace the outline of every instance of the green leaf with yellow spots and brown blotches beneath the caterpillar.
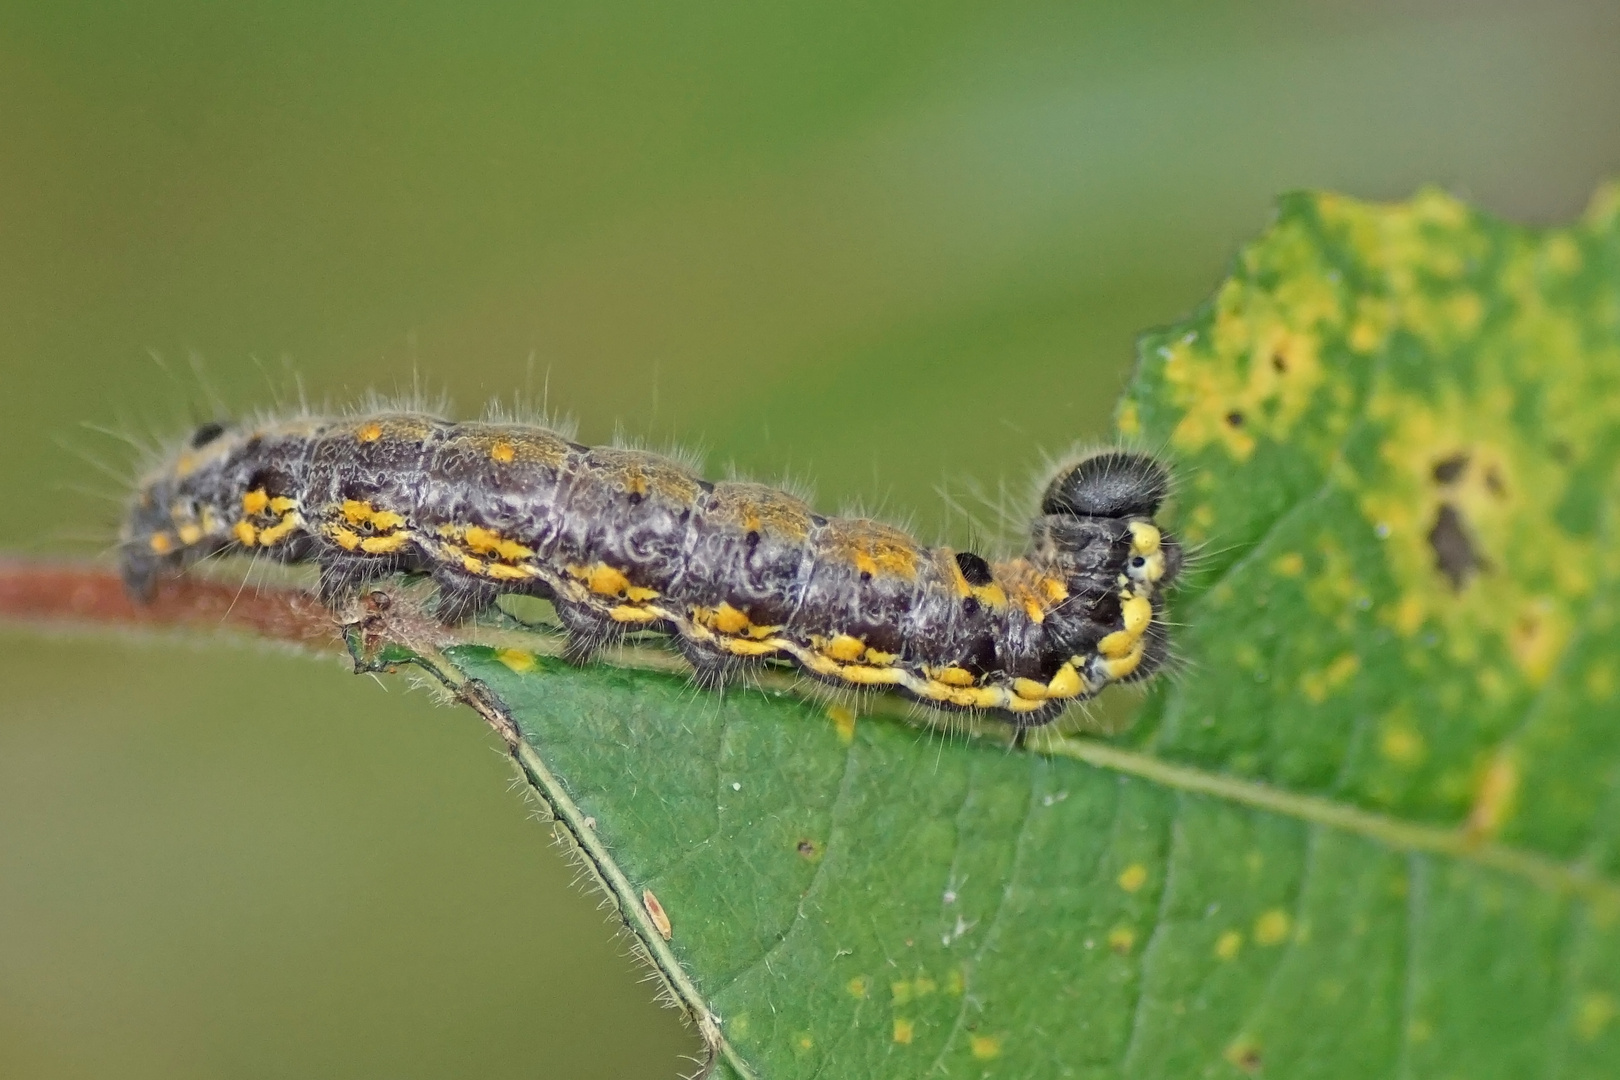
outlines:
[{"label": "green leaf with yellow spots and brown blotches beneath the caterpillar", "polygon": [[1119,737],[352,644],[515,725],[734,1074],[1617,1075],[1620,189],[1291,196],[1119,427],[1204,544]]}]

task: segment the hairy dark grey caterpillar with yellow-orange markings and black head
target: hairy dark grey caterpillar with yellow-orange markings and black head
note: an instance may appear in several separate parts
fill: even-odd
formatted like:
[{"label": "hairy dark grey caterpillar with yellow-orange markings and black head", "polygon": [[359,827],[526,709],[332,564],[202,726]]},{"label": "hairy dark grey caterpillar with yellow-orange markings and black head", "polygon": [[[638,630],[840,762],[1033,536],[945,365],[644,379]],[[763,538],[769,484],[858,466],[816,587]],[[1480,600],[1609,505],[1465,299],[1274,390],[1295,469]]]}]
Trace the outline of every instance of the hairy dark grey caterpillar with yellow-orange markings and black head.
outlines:
[{"label": "hairy dark grey caterpillar with yellow-orange markings and black head", "polygon": [[1153,523],[1168,491],[1147,455],[1082,458],[1051,478],[1025,552],[991,563],[531,424],[415,411],[207,423],[139,483],[120,562],[136,597],[212,554],[314,562],[329,604],[426,572],[446,622],[502,593],[549,599],[573,659],[661,631],[706,683],[786,661],[1034,727],[1163,664],[1181,570]]}]

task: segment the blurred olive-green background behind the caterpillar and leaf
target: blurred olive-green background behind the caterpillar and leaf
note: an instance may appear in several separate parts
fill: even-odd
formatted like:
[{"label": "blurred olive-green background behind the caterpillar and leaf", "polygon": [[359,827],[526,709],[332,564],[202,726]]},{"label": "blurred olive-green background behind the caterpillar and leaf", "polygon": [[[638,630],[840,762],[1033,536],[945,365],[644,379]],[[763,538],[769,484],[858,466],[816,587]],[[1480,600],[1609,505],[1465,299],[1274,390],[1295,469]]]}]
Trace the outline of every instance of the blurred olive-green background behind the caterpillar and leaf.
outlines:
[{"label": "blurred olive-green background behind the caterpillar and leaf", "polygon": [[[0,546],[287,393],[544,392],[961,534],[1272,198],[1620,173],[1614,3],[0,10]],[[193,369],[202,374],[194,374]],[[99,487],[113,500],[86,494]],[[0,1075],[648,1077],[695,1038],[403,680],[0,635]]]}]

